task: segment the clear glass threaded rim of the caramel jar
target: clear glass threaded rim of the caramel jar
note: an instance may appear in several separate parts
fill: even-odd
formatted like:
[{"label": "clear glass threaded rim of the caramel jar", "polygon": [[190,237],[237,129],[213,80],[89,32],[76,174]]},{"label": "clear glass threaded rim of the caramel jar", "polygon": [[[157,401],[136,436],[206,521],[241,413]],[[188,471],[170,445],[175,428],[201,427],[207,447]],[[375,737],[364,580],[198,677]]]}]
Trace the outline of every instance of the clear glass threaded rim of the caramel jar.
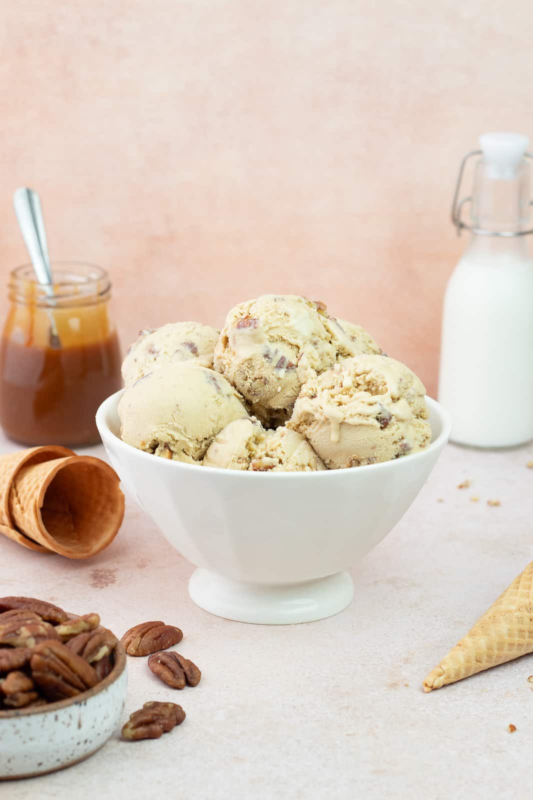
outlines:
[{"label": "clear glass threaded rim of the caramel jar", "polygon": [[66,260],[53,261],[51,266],[54,274],[51,292],[38,282],[31,264],[14,267],[10,271],[10,299],[36,306],[85,306],[109,298],[111,281],[103,267]]}]

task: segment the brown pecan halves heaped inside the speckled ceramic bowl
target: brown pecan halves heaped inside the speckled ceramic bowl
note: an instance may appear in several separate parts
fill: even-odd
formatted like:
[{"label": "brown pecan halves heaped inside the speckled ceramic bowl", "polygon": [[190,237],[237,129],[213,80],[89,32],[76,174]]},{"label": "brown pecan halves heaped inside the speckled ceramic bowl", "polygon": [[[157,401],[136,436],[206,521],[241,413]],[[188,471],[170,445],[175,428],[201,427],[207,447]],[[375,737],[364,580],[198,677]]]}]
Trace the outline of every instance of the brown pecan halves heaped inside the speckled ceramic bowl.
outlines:
[{"label": "brown pecan halves heaped inside the speckled ceramic bowl", "polygon": [[42,706],[96,686],[117,638],[98,614],[70,617],[35,598],[0,598],[0,710]]}]

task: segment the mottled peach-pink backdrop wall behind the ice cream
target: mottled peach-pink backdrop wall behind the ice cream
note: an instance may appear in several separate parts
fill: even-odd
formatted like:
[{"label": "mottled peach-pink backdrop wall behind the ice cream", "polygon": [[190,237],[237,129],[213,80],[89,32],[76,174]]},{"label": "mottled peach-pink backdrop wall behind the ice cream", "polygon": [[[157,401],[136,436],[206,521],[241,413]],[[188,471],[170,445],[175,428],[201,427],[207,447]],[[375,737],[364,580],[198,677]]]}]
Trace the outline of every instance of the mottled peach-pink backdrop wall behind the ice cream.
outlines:
[{"label": "mottled peach-pink backdrop wall behind the ice cream", "polygon": [[533,134],[531,3],[18,0],[2,18],[2,280],[26,260],[28,184],[52,257],[111,271],[123,345],[295,292],[435,392],[459,158],[483,130]]}]

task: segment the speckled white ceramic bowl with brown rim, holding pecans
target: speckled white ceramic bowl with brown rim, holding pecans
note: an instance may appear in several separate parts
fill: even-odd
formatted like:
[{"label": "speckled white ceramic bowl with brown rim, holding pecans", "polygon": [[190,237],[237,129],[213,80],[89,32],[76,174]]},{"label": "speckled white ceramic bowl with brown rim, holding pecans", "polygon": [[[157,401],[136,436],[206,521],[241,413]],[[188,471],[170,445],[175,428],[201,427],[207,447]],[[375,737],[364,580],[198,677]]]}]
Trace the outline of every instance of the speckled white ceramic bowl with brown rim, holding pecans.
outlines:
[{"label": "speckled white ceramic bowl with brown rim, holding pecans", "polygon": [[0,711],[0,780],[63,770],[88,758],[117,730],[127,692],[125,650],[93,689],[34,709]]}]

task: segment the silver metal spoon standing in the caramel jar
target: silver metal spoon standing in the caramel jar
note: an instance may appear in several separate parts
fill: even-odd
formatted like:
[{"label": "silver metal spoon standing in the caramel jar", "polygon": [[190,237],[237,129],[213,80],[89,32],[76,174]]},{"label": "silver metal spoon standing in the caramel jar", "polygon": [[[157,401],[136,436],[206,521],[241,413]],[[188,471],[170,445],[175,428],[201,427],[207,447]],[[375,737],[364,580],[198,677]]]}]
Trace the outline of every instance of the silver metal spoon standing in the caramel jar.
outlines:
[{"label": "silver metal spoon standing in the caramel jar", "polygon": [[[17,214],[18,226],[20,227],[22,238],[26,244],[26,249],[30,254],[31,263],[38,282],[41,284],[50,306],[54,306],[54,278],[50,267],[50,257],[48,255],[48,245],[46,243],[45,222],[42,216],[41,199],[33,189],[22,186],[15,190],[13,195],[13,205]],[[58,326],[54,319],[54,311],[51,308],[46,310],[50,320],[49,343],[54,350],[59,350],[61,340],[58,334]]]}]

